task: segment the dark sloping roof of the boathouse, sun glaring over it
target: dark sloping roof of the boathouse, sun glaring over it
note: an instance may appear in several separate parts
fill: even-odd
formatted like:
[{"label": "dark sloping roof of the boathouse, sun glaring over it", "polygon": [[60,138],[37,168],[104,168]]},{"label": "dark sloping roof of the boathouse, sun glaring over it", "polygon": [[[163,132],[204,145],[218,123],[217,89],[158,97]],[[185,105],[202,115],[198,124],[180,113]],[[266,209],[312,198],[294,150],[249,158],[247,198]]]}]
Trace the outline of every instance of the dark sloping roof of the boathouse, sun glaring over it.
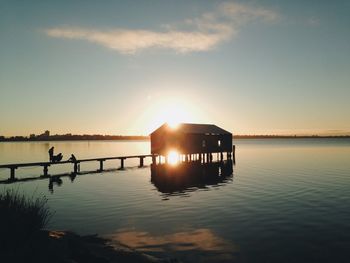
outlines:
[{"label": "dark sloping roof of the boathouse, sun glaring over it", "polygon": [[152,134],[156,134],[160,131],[172,129],[181,133],[188,134],[212,134],[212,135],[223,135],[231,134],[230,132],[214,125],[214,124],[194,124],[194,123],[181,123],[176,126],[175,129],[171,128],[167,123],[164,123],[158,129],[156,129]]}]

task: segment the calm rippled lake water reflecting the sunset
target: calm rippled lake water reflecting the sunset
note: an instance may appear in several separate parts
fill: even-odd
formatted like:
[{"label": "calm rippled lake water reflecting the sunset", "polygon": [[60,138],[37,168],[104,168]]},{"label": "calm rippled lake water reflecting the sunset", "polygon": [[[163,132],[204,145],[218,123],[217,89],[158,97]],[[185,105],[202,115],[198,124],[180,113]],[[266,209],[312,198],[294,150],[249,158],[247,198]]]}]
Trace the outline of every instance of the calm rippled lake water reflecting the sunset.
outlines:
[{"label": "calm rippled lake water reflecting the sunset", "polygon": [[[350,140],[235,140],[233,174],[184,183],[151,178],[150,160],[137,168],[11,185],[44,194],[50,228],[97,233],[156,256],[183,262],[350,262]],[[148,154],[149,142],[79,141],[0,143],[0,164],[48,159]],[[106,168],[118,168],[108,161]],[[81,170],[96,170],[98,162]],[[71,165],[50,167],[68,172]],[[221,172],[223,167],[215,167]],[[190,170],[192,171],[192,170]],[[42,173],[16,171],[20,178]],[[205,172],[204,172],[205,173]],[[9,176],[0,169],[0,180]],[[175,180],[175,181],[174,181]],[[175,186],[173,184],[176,184]]]}]

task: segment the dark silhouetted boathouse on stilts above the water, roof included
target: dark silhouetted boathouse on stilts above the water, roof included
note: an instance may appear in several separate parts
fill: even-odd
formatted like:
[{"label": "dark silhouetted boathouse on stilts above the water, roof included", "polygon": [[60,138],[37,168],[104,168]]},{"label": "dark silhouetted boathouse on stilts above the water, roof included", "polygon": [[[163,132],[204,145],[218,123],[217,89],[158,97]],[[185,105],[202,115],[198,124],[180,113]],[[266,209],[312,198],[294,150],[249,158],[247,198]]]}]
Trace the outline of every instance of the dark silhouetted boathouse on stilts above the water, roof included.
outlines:
[{"label": "dark silhouetted boathouse on stilts above the water, roof included", "polygon": [[182,123],[171,127],[165,123],[151,133],[151,153],[164,156],[166,162],[170,152],[178,153],[180,161],[211,162],[214,153],[218,160],[223,160],[224,153],[231,159],[232,151],[232,133],[212,124]]}]

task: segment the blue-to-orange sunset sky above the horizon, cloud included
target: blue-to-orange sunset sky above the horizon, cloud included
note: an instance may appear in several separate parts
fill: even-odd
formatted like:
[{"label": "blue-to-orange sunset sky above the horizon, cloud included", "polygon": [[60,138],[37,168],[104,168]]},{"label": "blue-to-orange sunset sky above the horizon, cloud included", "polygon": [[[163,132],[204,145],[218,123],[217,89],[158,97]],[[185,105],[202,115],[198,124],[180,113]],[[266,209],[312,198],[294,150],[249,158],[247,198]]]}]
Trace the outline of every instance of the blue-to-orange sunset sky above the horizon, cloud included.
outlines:
[{"label": "blue-to-orange sunset sky above the horizon, cloud included", "polygon": [[0,135],[350,134],[349,1],[0,1]]}]

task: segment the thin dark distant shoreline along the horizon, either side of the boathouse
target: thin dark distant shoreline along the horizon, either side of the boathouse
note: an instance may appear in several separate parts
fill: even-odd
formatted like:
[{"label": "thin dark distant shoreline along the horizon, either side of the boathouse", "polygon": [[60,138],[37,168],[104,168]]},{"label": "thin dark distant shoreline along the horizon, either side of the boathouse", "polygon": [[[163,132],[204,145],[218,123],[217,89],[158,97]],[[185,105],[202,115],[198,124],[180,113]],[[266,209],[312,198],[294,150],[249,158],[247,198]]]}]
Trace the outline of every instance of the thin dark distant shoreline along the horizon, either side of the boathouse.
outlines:
[{"label": "thin dark distant shoreline along the horizon, either side of the boathouse", "polygon": [[[234,135],[234,139],[349,139],[350,135]],[[149,136],[124,135],[52,135],[37,136],[0,136],[0,142],[36,142],[36,141],[148,141]]]}]

